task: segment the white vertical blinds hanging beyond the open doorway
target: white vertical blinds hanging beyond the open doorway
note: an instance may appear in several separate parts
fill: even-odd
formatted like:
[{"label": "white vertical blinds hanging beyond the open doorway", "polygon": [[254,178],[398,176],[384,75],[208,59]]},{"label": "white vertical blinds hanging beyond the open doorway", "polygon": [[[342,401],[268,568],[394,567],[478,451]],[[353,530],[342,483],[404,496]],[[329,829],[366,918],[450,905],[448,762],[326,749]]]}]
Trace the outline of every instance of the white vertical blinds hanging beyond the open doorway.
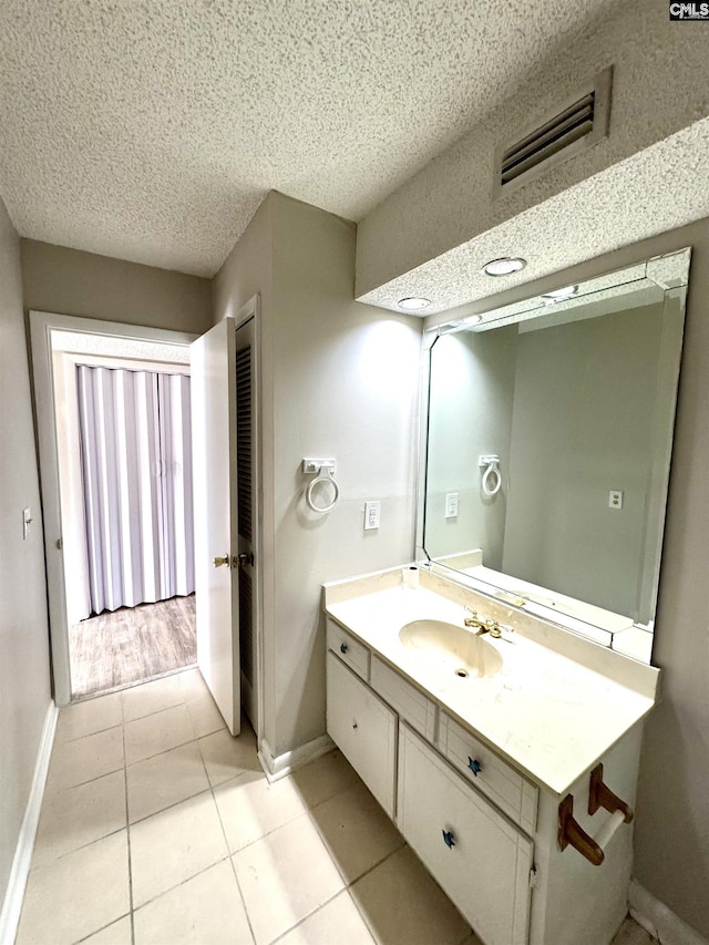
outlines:
[{"label": "white vertical blinds hanging beyond the open doorway", "polygon": [[191,594],[189,379],[76,374],[92,613]]}]

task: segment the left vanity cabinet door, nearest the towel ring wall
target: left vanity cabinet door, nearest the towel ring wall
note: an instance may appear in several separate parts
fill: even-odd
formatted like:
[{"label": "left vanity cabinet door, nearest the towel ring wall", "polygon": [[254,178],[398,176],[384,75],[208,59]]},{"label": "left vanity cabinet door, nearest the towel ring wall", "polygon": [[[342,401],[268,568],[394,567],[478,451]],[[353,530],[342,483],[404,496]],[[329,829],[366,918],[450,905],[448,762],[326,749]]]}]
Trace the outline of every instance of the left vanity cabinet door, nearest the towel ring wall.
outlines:
[{"label": "left vanity cabinet door, nearest the towel ring wall", "polygon": [[332,653],[327,658],[327,728],[393,820],[397,716]]}]

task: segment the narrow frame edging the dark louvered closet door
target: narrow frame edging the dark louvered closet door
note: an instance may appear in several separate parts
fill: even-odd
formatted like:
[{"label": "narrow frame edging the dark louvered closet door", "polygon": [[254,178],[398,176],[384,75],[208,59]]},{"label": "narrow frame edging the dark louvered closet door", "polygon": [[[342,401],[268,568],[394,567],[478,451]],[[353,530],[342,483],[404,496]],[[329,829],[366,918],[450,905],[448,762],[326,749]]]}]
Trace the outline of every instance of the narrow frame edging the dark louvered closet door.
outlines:
[{"label": "narrow frame edging the dark louvered closet door", "polygon": [[[256,719],[253,719],[254,728],[256,729],[257,743],[260,739],[264,725],[264,489],[261,482],[263,470],[263,403],[261,403],[261,302],[260,295],[257,292],[245,302],[236,312],[234,318],[234,333],[249,319],[254,319],[254,377],[251,379],[253,396],[256,403],[255,423],[254,423],[254,456],[251,463],[251,482],[256,500],[254,509],[256,517],[254,520],[255,537],[254,537],[254,557],[255,577],[256,577],[256,606],[254,608],[254,643],[255,643],[255,672],[254,685],[256,686]],[[236,372],[236,363],[232,366]],[[237,458],[238,462],[238,458]],[[240,631],[240,630],[239,630]],[[240,671],[240,670],[239,670]]]}]

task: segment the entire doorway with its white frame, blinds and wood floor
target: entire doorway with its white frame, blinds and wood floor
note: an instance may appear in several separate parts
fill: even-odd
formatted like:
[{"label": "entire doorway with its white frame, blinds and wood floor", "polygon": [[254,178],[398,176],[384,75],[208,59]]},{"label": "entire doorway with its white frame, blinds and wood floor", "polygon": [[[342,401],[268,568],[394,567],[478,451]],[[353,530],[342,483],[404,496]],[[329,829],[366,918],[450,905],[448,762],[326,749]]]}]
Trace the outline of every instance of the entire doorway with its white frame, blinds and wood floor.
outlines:
[{"label": "entire doorway with its white frame, blinds and wood floor", "polygon": [[196,664],[193,336],[37,312],[31,325],[52,664],[65,705]]}]

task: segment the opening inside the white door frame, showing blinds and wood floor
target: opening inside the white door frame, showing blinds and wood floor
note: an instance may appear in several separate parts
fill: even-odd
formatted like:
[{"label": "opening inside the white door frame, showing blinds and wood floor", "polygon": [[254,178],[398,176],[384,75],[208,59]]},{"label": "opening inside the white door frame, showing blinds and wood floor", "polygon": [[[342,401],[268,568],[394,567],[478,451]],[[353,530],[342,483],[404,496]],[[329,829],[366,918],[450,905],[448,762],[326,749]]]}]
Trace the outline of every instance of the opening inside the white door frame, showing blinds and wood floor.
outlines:
[{"label": "opening inside the white door frame, showing blinds and wood floor", "polygon": [[[63,342],[73,347],[70,335]],[[53,358],[54,377],[68,377],[58,417],[62,511],[83,526],[74,530],[83,542],[75,534],[64,547],[76,698],[196,662],[189,374],[183,363]],[[79,460],[79,475],[64,453]]]}]

